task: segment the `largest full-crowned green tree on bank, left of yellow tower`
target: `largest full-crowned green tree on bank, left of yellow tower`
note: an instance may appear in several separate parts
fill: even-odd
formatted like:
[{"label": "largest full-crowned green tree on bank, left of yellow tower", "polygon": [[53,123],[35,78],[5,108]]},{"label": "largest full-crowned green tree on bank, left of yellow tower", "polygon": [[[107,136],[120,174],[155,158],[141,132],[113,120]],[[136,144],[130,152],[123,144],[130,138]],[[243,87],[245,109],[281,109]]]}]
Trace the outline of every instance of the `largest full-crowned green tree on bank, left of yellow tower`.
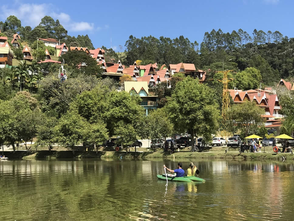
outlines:
[{"label": "largest full-crowned green tree on bank, left of yellow tower", "polygon": [[167,99],[166,110],[176,131],[189,131],[192,137],[203,135],[208,140],[218,128],[217,106],[211,89],[188,77],[176,84],[172,96]]}]

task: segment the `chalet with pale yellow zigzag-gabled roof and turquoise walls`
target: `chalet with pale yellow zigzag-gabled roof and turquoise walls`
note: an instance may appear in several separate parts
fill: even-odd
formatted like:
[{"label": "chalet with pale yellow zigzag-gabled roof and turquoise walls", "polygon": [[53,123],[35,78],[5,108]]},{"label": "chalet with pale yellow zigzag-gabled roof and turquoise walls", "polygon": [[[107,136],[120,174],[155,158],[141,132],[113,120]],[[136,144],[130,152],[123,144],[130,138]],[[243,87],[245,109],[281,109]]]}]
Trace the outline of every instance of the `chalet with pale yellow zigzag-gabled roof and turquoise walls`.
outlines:
[{"label": "chalet with pale yellow zigzag-gabled roof and turquoise walls", "polygon": [[146,110],[146,116],[157,108],[157,96],[150,94],[147,81],[125,81],[124,84],[126,92],[134,93],[141,97],[141,106]]}]

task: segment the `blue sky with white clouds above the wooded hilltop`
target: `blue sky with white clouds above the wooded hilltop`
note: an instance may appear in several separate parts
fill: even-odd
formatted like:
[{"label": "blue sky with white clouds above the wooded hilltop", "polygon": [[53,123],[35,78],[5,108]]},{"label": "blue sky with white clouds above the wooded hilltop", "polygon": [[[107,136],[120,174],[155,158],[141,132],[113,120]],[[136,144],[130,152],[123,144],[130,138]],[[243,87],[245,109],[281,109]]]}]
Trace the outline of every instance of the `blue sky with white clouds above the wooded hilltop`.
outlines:
[{"label": "blue sky with white clouds above the wooded hilltop", "polygon": [[[294,37],[292,0],[149,0],[142,1],[4,1],[0,21],[9,15],[21,20],[22,26],[34,28],[48,15],[68,30],[70,36],[86,35],[95,48],[104,45],[124,51],[130,35],[160,36],[174,39],[183,35],[200,43],[205,32],[239,28],[252,35],[254,29],[280,31]],[[119,46],[122,46],[120,49]]]}]

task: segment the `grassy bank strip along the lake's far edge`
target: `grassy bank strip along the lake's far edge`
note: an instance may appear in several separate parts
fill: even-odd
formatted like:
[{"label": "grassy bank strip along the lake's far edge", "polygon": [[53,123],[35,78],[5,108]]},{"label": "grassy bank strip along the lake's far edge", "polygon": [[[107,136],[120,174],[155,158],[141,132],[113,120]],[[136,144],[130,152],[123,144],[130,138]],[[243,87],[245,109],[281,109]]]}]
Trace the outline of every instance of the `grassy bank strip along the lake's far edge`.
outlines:
[{"label": "grassy bank strip along the lake's far edge", "polygon": [[4,151],[5,157],[9,159],[55,159],[55,158],[169,158],[181,159],[235,159],[235,160],[275,160],[275,161],[292,161],[294,154],[289,153],[242,153],[237,151],[211,151],[202,153],[191,152],[126,152],[126,151],[54,151],[38,150],[26,153],[26,151]]}]

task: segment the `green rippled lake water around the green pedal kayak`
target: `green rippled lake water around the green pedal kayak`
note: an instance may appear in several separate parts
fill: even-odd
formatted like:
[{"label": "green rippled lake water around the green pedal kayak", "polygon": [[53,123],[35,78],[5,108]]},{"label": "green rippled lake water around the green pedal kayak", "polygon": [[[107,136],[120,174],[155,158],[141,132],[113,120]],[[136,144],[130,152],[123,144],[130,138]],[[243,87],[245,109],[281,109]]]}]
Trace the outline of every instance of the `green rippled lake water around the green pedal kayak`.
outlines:
[{"label": "green rippled lake water around the green pedal kayak", "polygon": [[294,219],[292,163],[194,163],[205,183],[169,182],[166,190],[156,174],[177,161],[0,161],[0,220]]}]

